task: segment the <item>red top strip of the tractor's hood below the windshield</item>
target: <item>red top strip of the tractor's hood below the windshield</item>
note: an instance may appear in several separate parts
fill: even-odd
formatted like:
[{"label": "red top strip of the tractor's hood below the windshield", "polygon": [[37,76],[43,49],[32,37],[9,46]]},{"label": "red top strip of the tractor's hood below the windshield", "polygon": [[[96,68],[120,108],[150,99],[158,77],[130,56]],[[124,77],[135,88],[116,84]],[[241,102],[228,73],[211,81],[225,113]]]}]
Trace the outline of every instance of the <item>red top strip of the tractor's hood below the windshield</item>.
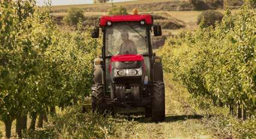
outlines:
[{"label": "red top strip of the tractor's hood below the windshield", "polygon": [[112,56],[111,62],[121,62],[121,61],[143,61],[142,55],[116,55]]}]

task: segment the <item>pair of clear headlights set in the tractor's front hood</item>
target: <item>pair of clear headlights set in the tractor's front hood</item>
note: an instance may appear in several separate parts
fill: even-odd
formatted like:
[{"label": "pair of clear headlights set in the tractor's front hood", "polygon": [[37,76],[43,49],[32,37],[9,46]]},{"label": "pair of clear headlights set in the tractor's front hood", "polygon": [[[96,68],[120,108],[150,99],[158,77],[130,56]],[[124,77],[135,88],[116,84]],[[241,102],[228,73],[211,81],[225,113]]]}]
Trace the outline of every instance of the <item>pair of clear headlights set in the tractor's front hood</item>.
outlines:
[{"label": "pair of clear headlights set in the tractor's front hood", "polygon": [[142,68],[136,69],[114,69],[114,77],[141,76]]}]

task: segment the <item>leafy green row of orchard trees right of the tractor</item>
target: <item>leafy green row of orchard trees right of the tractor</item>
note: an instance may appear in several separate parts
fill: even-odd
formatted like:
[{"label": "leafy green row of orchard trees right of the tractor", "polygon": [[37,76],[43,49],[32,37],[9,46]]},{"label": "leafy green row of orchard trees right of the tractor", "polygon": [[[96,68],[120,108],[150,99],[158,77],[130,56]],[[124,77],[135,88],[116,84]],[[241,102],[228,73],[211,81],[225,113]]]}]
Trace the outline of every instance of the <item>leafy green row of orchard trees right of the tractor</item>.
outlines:
[{"label": "leafy green row of orchard trees right of the tractor", "polygon": [[160,50],[164,70],[199,102],[211,99],[230,112],[235,105],[237,113],[255,114],[255,13],[246,2],[237,12],[227,10],[215,29],[201,26],[170,38]]}]

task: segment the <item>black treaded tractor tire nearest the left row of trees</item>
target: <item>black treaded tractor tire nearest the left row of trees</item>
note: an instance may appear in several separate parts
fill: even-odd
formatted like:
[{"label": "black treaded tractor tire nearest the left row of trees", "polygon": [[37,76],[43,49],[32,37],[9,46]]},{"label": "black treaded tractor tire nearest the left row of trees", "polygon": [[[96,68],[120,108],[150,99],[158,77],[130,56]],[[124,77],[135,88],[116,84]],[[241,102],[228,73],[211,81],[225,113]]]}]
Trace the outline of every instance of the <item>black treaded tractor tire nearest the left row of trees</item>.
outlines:
[{"label": "black treaded tractor tire nearest the left row of trees", "polygon": [[103,105],[103,84],[93,84],[92,86],[92,111],[104,112]]}]

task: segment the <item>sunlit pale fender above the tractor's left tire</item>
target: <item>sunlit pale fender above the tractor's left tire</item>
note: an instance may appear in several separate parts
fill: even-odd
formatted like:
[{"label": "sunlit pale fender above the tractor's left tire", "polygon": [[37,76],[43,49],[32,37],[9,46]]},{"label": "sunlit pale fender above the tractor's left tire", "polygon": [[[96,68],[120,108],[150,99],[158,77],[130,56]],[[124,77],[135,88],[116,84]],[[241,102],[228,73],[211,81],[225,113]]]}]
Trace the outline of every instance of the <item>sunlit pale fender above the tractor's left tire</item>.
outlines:
[{"label": "sunlit pale fender above the tractor's left tire", "polygon": [[95,71],[93,73],[93,81],[95,84],[102,84],[103,83],[103,70],[102,70],[102,58],[95,58]]}]

